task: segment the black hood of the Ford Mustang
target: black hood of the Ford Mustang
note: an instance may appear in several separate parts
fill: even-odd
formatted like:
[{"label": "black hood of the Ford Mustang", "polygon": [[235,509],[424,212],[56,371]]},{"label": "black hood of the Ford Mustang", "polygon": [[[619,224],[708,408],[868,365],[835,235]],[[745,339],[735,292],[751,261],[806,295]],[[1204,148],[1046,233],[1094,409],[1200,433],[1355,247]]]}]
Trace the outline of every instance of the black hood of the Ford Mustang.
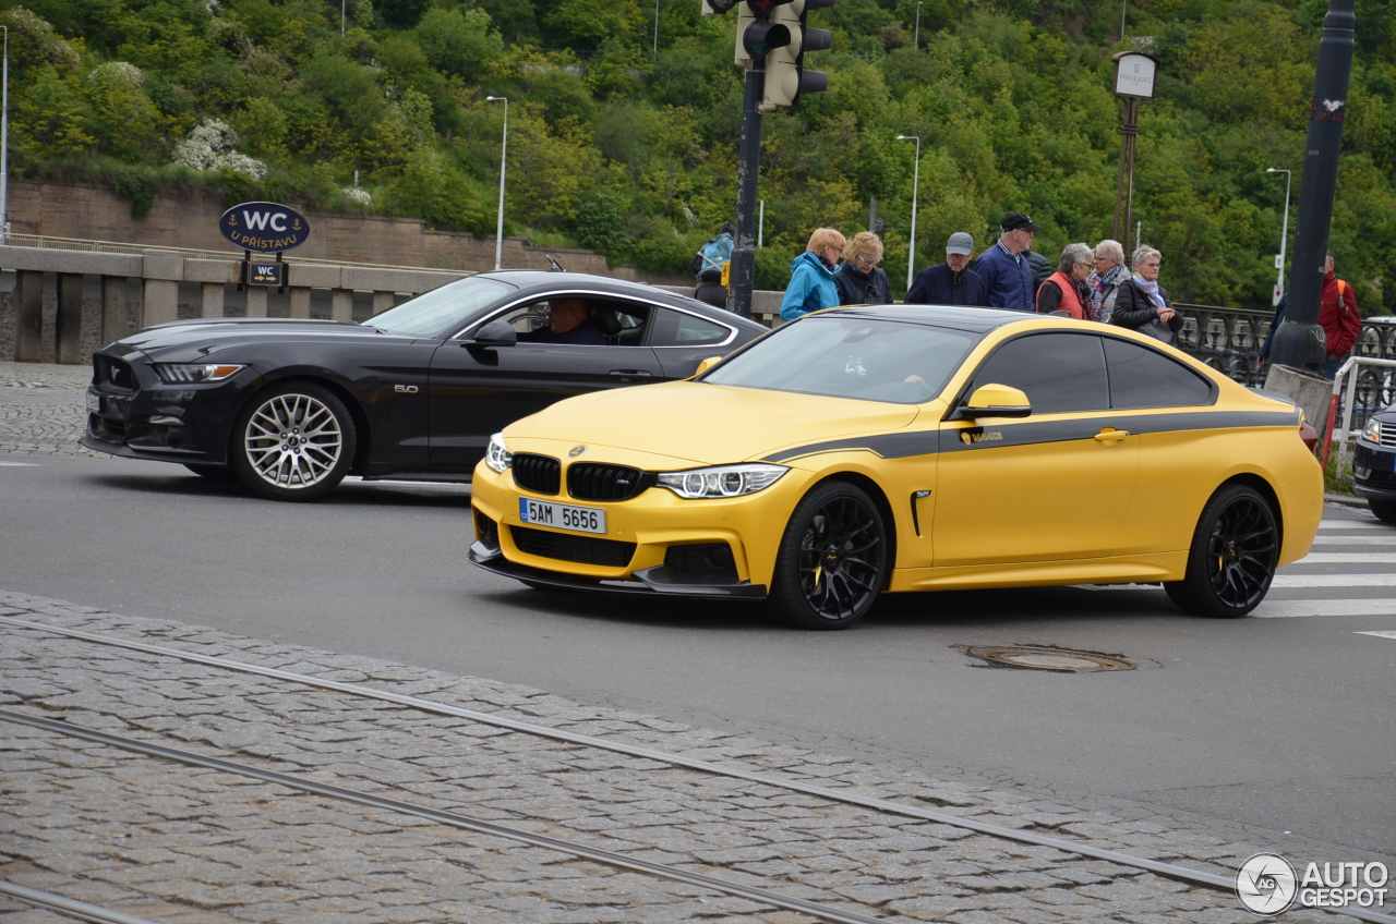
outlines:
[{"label": "black hood of the Ford Mustang", "polygon": [[176,321],[137,331],[103,348],[117,356],[137,350],[158,363],[197,363],[246,343],[385,336],[371,327],[300,318],[218,318]]}]

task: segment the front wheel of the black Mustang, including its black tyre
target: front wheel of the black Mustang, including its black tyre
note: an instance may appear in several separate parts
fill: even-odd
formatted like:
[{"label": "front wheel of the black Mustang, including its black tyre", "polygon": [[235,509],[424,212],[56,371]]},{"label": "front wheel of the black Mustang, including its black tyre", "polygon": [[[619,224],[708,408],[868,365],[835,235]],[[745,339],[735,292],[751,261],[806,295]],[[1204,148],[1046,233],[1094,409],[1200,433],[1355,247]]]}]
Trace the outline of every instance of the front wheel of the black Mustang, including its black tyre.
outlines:
[{"label": "front wheel of the black Mustang, including its black tyre", "polygon": [[332,491],[353,463],[353,419],[328,388],[286,382],[255,395],[233,424],[230,461],[262,497],[309,501]]}]

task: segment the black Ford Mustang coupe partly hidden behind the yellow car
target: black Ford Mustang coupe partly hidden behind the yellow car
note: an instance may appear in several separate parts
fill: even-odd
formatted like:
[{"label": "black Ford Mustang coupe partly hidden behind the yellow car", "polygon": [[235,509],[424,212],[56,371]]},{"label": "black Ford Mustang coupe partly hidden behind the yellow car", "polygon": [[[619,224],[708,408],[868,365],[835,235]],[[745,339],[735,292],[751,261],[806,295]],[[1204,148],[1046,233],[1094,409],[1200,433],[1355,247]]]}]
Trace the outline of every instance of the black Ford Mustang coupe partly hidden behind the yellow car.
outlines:
[{"label": "black Ford Mustang coupe partly hidden behind the yellow car", "polygon": [[[578,299],[604,345],[533,342]],[[345,475],[469,480],[490,434],[588,391],[692,375],[766,328],[653,286],[469,276],[360,325],[176,321],[92,356],[82,445],[310,500]]]}]

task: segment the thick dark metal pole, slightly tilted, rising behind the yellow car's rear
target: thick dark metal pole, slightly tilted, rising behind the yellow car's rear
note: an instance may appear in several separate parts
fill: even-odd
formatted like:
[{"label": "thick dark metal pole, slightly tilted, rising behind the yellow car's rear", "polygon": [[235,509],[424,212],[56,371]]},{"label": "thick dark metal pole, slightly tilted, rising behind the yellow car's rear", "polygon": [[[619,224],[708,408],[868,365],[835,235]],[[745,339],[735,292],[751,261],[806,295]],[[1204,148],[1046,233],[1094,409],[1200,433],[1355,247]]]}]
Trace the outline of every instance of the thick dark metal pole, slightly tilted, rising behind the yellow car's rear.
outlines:
[{"label": "thick dark metal pole, slightly tilted, rising behind the yellow car's rear", "polygon": [[1318,322],[1323,295],[1323,258],[1328,253],[1333,197],[1337,193],[1337,155],[1343,147],[1347,116],[1347,84],[1353,74],[1354,0],[1332,0],[1323,20],[1314,74],[1308,144],[1304,145],[1304,180],[1300,187],[1298,232],[1290,269],[1290,297],[1284,322],[1270,348],[1273,366],[1322,374],[1328,341]]}]

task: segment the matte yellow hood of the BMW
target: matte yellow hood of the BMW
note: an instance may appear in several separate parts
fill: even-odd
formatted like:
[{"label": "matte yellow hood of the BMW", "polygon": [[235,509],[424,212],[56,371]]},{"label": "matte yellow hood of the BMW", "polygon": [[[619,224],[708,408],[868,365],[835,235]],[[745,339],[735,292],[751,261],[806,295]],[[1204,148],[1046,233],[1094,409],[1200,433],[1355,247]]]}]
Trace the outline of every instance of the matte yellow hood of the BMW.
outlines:
[{"label": "matte yellow hood of the BMW", "polygon": [[917,412],[914,405],[681,381],[570,398],[504,433],[722,465],[786,447],[900,430]]}]

